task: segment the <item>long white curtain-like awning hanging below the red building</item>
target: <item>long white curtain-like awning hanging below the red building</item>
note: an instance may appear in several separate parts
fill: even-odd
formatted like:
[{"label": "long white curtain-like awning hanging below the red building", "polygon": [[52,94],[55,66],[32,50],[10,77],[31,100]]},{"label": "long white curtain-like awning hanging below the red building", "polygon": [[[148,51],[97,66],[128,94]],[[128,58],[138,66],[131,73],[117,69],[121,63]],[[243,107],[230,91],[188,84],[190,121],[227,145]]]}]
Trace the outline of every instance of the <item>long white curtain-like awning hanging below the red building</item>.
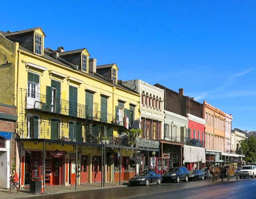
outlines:
[{"label": "long white curtain-like awning hanging below the red building", "polygon": [[185,162],[202,162],[205,163],[205,149],[201,147],[193,147],[184,145],[184,161]]}]

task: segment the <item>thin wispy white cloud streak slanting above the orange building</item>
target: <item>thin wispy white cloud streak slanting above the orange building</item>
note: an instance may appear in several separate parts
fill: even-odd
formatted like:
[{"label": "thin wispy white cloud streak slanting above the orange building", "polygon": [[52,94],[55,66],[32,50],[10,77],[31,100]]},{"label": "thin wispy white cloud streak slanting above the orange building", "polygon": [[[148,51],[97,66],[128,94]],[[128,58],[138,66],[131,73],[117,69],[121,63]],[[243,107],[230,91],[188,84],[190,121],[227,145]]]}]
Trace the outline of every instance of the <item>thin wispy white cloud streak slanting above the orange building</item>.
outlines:
[{"label": "thin wispy white cloud streak slanting above the orange building", "polygon": [[[224,84],[222,84],[221,86],[219,86],[219,87],[213,89],[212,91],[203,92],[203,93],[199,94],[198,96],[195,96],[195,100],[198,101],[198,100],[200,100],[200,99],[202,99],[202,98],[204,98],[204,97],[206,97],[206,96],[209,96],[209,94],[212,94],[212,93],[214,93],[214,92],[216,92],[216,91],[220,91],[220,90],[223,89],[223,88],[227,88],[227,87],[231,86],[232,84],[234,84],[234,82],[235,82],[235,80],[236,80],[237,77],[240,77],[240,76],[243,76],[243,75],[245,75],[245,74],[247,74],[247,73],[250,73],[250,72],[252,72],[253,70],[255,70],[255,67],[251,67],[251,68],[249,68],[249,69],[247,69],[247,70],[245,70],[245,71],[242,71],[242,72],[240,72],[240,73],[236,73],[236,74],[234,74],[234,75],[229,76],[229,77],[228,77],[228,80],[225,81]],[[236,92],[236,94],[235,94],[235,92],[236,92],[236,91],[233,92],[233,95],[234,95],[234,96],[240,96],[239,93],[238,93],[238,91]],[[247,91],[247,93],[249,94],[250,91]],[[216,97],[216,96],[215,96],[215,97]]]}]

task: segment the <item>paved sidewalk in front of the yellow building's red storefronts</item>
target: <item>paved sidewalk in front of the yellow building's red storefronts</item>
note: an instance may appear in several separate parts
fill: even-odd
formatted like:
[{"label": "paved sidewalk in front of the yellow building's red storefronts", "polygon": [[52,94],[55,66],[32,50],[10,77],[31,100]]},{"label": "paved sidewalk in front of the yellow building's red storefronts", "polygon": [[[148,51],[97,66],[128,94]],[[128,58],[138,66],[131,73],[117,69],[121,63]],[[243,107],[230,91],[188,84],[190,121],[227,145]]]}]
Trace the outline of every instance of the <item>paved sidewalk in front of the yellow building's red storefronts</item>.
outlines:
[{"label": "paved sidewalk in front of the yellow building's red storefronts", "polygon": [[33,197],[33,196],[41,196],[41,195],[53,195],[53,194],[62,194],[68,192],[76,192],[76,191],[88,191],[88,190],[95,190],[95,189],[104,189],[104,188],[121,188],[127,187],[129,185],[128,181],[122,181],[121,185],[119,186],[119,182],[105,182],[105,187],[101,187],[100,182],[96,183],[84,183],[81,185],[76,186],[49,186],[46,185],[44,188],[44,194],[29,194],[29,188],[20,189],[20,193],[17,193],[16,189],[12,189],[12,194],[8,194],[10,189],[0,188],[0,199],[13,199],[13,198],[26,198],[26,197]]}]

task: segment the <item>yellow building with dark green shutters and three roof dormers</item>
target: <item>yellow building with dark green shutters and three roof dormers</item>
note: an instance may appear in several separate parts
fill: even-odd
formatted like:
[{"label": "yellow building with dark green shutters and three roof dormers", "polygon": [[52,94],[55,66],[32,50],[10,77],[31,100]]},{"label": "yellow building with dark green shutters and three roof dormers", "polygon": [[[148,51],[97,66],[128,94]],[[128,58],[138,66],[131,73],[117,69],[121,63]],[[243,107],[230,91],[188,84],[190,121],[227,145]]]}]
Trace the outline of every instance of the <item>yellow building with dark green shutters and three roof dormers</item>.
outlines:
[{"label": "yellow building with dark green shutters and three roof dormers", "polygon": [[86,48],[44,49],[44,38],[40,27],[0,32],[0,103],[17,107],[21,187],[41,175],[65,186],[129,180],[137,155],[159,144],[126,135],[140,126],[140,94],[118,84],[116,64],[97,66]]}]

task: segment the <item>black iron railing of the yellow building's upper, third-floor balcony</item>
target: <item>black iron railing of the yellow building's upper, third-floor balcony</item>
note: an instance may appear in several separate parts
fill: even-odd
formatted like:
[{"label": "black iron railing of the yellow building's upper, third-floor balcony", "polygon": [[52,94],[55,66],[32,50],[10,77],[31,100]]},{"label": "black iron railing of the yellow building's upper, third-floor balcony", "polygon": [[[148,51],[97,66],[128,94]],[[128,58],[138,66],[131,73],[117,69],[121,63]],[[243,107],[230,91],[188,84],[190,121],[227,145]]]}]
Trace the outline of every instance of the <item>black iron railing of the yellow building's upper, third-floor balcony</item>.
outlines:
[{"label": "black iron railing of the yellow building's upper, third-floor balcony", "polygon": [[98,111],[97,109],[88,108],[88,106],[84,104],[74,103],[39,93],[26,93],[26,109],[37,109],[45,112],[124,126],[123,117],[116,119],[108,112]]}]

